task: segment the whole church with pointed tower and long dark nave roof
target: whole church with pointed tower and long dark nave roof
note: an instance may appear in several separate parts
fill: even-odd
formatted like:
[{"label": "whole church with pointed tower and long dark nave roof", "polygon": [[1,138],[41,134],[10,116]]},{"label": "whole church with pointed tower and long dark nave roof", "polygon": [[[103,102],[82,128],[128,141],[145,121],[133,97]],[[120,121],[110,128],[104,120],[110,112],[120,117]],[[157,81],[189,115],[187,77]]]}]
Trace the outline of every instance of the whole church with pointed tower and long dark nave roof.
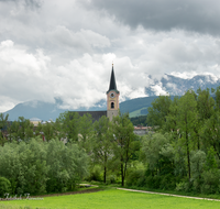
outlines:
[{"label": "whole church with pointed tower and long dark nave roof", "polygon": [[107,91],[107,110],[103,111],[77,111],[80,117],[84,114],[91,114],[92,121],[98,121],[102,116],[106,116],[111,121],[113,117],[118,116],[119,113],[119,96],[120,92],[117,89],[117,82],[113,72],[113,64],[111,70],[111,78],[109,84],[109,90]]}]

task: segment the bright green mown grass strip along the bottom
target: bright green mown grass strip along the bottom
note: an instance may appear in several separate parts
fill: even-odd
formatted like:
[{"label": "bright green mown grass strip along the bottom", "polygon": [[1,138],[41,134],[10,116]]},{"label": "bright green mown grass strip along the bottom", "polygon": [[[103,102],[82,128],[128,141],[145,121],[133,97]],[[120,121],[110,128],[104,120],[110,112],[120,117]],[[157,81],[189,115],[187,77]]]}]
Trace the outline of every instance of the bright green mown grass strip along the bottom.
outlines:
[{"label": "bright green mown grass strip along the bottom", "polygon": [[15,200],[1,202],[11,206],[30,206],[31,208],[66,208],[66,209],[207,209],[220,208],[219,201],[187,199],[182,197],[141,194],[124,190],[103,190],[92,194],[46,197],[44,200]]}]

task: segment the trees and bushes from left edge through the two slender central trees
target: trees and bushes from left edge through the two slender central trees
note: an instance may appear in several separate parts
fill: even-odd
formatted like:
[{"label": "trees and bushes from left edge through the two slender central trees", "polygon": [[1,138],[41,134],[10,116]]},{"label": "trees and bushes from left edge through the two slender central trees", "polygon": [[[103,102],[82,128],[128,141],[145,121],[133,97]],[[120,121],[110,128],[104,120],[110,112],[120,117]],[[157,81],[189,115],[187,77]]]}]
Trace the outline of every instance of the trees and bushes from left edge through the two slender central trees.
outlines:
[{"label": "trees and bushes from left edge through the two slender central trees", "polygon": [[90,114],[65,112],[36,128],[23,118],[7,120],[0,116],[0,196],[67,191],[82,179],[116,183],[120,177],[124,185],[140,148],[128,114],[92,123]]}]

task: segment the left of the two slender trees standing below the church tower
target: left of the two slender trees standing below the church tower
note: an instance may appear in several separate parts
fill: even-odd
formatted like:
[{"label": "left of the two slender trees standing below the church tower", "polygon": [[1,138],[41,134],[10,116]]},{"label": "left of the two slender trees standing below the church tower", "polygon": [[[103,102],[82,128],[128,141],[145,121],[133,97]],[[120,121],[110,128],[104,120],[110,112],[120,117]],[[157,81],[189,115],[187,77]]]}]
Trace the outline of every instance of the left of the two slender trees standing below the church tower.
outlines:
[{"label": "left of the two slender trees standing below the church tower", "polygon": [[101,117],[94,124],[94,138],[91,140],[91,152],[95,162],[99,163],[103,168],[103,183],[107,182],[107,169],[109,161],[113,156],[112,151],[112,132],[110,130],[110,121],[107,117]]}]

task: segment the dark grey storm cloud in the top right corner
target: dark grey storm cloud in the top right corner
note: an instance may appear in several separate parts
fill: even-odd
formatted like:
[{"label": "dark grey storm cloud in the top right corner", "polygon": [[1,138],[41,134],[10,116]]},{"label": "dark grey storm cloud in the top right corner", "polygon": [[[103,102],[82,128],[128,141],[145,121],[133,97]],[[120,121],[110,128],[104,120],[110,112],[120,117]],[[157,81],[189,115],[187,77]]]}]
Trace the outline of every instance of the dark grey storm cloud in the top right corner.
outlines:
[{"label": "dark grey storm cloud in the top right corner", "polygon": [[106,10],[131,28],[220,32],[219,0],[91,0],[90,6]]}]

